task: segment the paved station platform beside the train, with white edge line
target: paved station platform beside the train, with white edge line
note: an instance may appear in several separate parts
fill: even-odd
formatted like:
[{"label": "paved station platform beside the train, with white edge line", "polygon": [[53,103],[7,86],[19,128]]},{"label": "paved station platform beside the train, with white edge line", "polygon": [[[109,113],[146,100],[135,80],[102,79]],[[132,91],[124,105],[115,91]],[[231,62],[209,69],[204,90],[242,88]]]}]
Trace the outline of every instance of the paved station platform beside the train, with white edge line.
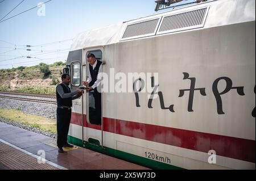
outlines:
[{"label": "paved station platform beside the train, with white edge line", "polygon": [[49,144],[53,142],[50,137],[0,123],[0,170],[150,170],[85,148],[58,153]]}]

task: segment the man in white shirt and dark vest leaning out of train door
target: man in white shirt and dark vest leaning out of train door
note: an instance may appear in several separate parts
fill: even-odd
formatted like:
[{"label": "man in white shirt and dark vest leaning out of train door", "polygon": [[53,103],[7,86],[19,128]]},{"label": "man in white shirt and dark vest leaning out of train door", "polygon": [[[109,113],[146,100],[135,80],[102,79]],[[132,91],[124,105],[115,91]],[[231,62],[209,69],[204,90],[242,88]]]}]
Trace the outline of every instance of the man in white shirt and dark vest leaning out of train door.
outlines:
[{"label": "man in white shirt and dark vest leaning out of train door", "polygon": [[97,90],[97,87],[101,83],[100,73],[102,72],[102,62],[98,61],[93,53],[87,55],[87,61],[89,63],[89,76],[86,82],[83,82],[86,86],[86,91],[93,91],[93,97],[95,100],[94,113],[90,110],[90,123],[101,125],[101,92]]}]

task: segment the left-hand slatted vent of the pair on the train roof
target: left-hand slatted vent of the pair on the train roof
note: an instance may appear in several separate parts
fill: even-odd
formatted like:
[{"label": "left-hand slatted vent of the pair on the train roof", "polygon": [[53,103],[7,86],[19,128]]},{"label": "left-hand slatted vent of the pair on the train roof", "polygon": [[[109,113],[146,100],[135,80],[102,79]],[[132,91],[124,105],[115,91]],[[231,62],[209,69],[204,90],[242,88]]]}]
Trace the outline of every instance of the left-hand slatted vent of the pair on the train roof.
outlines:
[{"label": "left-hand slatted vent of the pair on the train roof", "polygon": [[160,18],[127,24],[121,41],[155,35],[159,23]]}]

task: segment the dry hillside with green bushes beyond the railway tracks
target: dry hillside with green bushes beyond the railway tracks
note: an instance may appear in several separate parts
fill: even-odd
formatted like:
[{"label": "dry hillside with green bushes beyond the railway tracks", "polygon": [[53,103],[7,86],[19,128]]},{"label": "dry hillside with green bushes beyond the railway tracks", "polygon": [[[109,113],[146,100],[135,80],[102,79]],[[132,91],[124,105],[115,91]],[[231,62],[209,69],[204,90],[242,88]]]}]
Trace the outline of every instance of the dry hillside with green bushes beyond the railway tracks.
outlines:
[{"label": "dry hillside with green bushes beyond the railway tracks", "polygon": [[64,62],[55,62],[51,65],[41,63],[31,67],[0,69],[0,91],[55,94],[64,67]]}]

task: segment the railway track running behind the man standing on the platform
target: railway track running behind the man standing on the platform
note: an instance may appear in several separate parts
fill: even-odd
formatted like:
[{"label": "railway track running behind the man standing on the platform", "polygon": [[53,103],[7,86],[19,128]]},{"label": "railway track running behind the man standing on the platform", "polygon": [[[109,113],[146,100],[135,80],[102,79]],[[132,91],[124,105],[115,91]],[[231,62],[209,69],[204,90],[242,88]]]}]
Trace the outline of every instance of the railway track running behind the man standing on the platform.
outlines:
[{"label": "railway track running behind the man standing on the platform", "polygon": [[[56,96],[45,95],[45,94],[28,94],[28,93],[21,93],[21,92],[0,91],[0,98],[24,100],[24,101],[38,102],[38,103],[57,104]],[[38,98],[38,99],[36,99],[36,98]],[[48,100],[42,99],[42,98],[47,98]],[[51,99],[51,100],[49,100],[49,99]],[[52,99],[55,99],[55,100],[52,100]]]}]

